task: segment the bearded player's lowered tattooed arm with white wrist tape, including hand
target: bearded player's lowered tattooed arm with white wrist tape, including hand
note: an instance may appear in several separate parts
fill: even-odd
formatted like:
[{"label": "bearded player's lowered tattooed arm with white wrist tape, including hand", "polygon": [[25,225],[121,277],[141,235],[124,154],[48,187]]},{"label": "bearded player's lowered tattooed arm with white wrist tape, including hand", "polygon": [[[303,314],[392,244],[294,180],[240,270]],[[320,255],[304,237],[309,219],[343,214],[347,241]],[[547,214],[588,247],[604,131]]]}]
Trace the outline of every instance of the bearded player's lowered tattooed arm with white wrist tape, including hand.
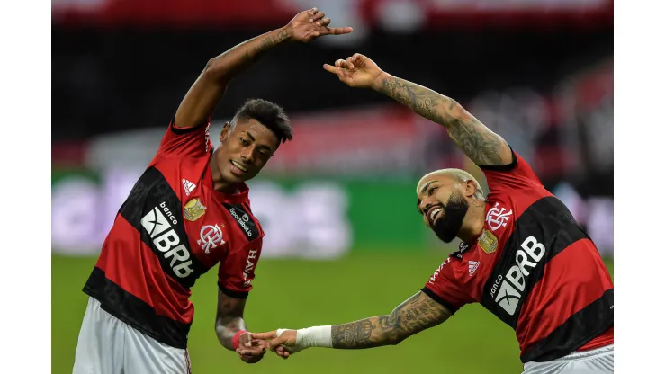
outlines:
[{"label": "bearded player's lowered tattooed arm with white wrist tape, including hand", "polygon": [[288,347],[288,352],[281,353],[283,357],[309,347],[365,349],[401,343],[413,334],[441,324],[449,316],[451,312],[446,307],[419,291],[395,307],[390,315],[373,316],[345,325],[277,330],[252,334],[252,337],[270,339],[274,351],[281,345]]}]

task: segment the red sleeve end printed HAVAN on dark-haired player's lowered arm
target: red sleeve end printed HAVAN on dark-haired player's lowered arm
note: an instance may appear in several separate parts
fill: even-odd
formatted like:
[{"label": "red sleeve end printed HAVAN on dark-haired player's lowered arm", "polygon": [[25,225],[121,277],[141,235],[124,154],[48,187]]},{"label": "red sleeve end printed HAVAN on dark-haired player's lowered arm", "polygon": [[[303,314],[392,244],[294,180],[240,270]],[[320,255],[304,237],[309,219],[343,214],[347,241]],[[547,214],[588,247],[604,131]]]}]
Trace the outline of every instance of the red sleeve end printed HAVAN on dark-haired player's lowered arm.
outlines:
[{"label": "red sleeve end printed HAVAN on dark-haired player's lowered arm", "polygon": [[261,241],[254,241],[245,247],[230,253],[220,263],[218,286],[220,290],[232,298],[247,298],[252,290],[255,269],[261,254]]}]

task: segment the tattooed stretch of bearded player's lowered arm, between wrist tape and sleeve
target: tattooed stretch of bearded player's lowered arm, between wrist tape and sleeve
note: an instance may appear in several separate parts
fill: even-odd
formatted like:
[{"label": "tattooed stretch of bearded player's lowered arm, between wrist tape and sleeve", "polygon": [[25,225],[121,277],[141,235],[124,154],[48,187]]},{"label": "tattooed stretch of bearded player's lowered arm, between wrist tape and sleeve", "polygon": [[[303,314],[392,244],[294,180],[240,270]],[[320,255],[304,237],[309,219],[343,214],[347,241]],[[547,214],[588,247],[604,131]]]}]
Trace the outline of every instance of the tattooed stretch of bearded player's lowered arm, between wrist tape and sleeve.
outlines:
[{"label": "tattooed stretch of bearded player's lowered arm, between wrist tape and sleeve", "polygon": [[451,316],[446,307],[419,292],[393,309],[389,316],[374,316],[331,327],[333,348],[363,349],[397,344]]}]

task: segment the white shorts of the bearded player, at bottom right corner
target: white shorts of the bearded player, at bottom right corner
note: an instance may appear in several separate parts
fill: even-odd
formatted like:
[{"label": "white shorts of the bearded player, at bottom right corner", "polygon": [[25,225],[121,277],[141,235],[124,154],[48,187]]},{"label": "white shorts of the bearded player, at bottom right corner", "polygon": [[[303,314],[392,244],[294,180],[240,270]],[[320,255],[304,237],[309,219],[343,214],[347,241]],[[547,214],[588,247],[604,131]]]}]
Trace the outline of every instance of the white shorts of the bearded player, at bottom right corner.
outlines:
[{"label": "white shorts of the bearded player, at bottom right corner", "polygon": [[595,350],[573,352],[553,361],[526,362],[523,374],[612,374],[614,359],[613,344],[610,344]]}]

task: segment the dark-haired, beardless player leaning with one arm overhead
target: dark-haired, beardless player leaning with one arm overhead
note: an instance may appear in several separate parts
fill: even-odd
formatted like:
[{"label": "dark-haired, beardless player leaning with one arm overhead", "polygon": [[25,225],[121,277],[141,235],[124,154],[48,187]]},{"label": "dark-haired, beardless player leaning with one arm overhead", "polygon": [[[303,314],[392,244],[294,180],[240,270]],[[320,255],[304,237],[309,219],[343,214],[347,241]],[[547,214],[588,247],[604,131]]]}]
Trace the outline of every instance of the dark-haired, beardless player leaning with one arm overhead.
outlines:
[{"label": "dark-haired, beardless player leaning with one arm overhead", "polygon": [[218,339],[232,351],[244,347],[243,361],[261,360],[264,342],[251,342],[243,319],[264,236],[246,182],[293,133],[281,107],[250,100],[225,124],[213,151],[210,117],[229,81],[269,49],[352,31],[329,23],[313,8],[208,62],[122,204],[85,283],[90,298],[75,373],[190,372],[190,288],[217,263]]}]

